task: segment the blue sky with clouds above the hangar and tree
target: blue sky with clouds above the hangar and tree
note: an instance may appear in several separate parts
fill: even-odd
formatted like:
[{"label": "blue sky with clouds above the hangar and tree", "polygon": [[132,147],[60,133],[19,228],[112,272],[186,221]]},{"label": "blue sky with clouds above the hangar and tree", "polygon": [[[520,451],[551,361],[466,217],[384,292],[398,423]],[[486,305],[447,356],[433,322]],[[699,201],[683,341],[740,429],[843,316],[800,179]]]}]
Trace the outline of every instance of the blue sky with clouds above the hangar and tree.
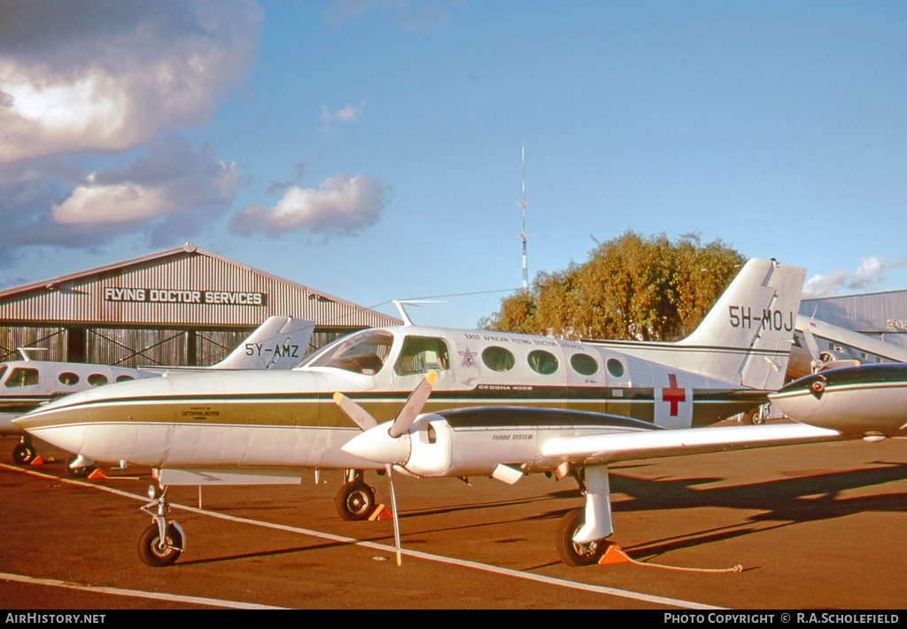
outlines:
[{"label": "blue sky with clouds above the hangar and tree", "polygon": [[0,288],[191,241],[470,328],[521,286],[525,146],[531,279],[630,229],[907,289],[902,2],[0,13]]}]

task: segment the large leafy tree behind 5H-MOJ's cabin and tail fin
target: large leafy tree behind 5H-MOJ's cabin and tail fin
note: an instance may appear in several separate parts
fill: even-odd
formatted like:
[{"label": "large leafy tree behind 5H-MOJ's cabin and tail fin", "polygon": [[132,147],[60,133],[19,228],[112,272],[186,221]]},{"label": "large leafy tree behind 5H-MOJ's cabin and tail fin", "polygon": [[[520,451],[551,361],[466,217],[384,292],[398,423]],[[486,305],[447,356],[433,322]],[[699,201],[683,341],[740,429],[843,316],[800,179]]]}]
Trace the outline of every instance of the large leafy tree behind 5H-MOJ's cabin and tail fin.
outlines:
[{"label": "large leafy tree behind 5H-MOJ's cabin and tail fin", "polygon": [[539,273],[528,295],[504,298],[479,325],[562,339],[682,339],[745,261],[696,233],[670,241],[627,231],[598,244],[581,266]]}]

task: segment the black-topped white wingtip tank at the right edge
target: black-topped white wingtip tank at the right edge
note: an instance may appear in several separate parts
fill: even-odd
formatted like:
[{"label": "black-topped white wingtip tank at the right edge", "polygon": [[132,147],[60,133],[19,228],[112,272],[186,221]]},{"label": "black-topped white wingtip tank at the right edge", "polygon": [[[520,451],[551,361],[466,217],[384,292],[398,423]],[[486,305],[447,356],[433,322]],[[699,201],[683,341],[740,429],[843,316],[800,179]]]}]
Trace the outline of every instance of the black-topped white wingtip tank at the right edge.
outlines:
[{"label": "black-topped white wingtip tank at the right edge", "polygon": [[795,421],[868,440],[907,436],[907,364],[821,369],[768,396]]}]

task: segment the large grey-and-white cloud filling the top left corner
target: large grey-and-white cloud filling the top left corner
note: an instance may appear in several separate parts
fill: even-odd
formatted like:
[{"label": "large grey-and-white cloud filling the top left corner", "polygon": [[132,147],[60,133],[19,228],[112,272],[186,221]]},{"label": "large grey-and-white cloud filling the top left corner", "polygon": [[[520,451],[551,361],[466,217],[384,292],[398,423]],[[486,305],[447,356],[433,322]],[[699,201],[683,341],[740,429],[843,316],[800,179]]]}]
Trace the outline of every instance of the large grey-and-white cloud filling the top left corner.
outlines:
[{"label": "large grey-and-white cloud filling the top left corner", "polygon": [[[104,15],[103,28],[86,15]],[[122,151],[210,119],[255,59],[253,2],[15,3],[0,21],[5,161]],[[96,22],[96,20],[95,20]]]}]

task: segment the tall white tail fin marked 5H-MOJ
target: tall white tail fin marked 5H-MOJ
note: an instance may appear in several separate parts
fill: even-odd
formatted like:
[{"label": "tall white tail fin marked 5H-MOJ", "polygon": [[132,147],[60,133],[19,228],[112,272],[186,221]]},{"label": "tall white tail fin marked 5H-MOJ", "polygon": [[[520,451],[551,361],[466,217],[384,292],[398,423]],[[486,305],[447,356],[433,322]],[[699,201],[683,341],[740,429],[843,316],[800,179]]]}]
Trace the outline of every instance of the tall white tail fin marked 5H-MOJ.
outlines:
[{"label": "tall white tail fin marked 5H-MOJ", "polygon": [[784,384],[806,270],[753,259],[727,287],[682,348],[696,347],[684,369],[745,387]]}]

